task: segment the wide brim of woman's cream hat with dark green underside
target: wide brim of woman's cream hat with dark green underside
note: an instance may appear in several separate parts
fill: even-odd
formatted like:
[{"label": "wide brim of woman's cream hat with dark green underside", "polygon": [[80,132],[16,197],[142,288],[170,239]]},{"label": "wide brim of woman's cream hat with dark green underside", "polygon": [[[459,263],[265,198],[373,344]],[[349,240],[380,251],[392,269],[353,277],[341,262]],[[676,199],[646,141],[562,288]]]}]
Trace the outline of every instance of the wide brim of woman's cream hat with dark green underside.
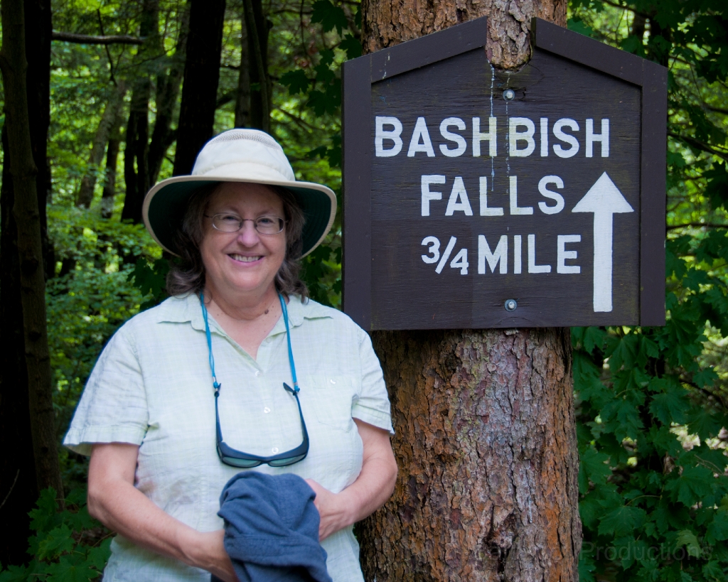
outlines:
[{"label": "wide brim of woman's cream hat with dark green underside", "polygon": [[187,203],[199,188],[223,182],[240,182],[264,184],[266,186],[282,186],[288,188],[296,196],[301,210],[304,212],[304,230],[302,257],[312,252],[331,230],[336,218],[336,194],[331,188],[312,182],[288,180],[243,180],[241,178],[212,178],[210,176],[177,176],[162,180],[151,188],[144,199],[142,217],[146,229],[152,238],[163,249],[173,255],[179,253],[175,249],[175,233],[181,228]]}]

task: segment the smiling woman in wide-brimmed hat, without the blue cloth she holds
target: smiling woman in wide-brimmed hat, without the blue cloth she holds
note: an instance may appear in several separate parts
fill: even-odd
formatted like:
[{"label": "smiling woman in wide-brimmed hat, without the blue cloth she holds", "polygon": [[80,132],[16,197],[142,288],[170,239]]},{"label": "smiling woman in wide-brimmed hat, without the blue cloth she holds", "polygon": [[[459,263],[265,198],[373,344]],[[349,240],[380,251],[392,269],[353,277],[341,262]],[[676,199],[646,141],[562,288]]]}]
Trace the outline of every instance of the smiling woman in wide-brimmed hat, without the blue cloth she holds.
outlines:
[{"label": "smiling woman in wide-brimmed hat, without the blue cloth she holds", "polygon": [[65,439],[91,455],[91,514],[119,533],[104,581],[236,580],[218,498],[256,465],[306,479],[329,574],[362,581],[352,524],[397,472],[387,392],[368,335],[306,300],[296,262],[331,228],[336,197],[296,182],[253,129],[210,140],[192,173],[144,203],[151,235],[181,258],[173,297],[111,338]]}]

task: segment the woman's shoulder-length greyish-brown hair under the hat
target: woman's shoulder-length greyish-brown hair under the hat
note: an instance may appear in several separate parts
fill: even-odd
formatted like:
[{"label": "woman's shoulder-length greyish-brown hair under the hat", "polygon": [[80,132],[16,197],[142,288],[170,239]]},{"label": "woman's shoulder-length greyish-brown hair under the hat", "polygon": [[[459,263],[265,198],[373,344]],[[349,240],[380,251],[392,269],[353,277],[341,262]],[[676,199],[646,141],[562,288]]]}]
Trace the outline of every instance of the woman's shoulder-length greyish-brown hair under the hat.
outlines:
[{"label": "woman's shoulder-length greyish-brown hair under the hat", "polygon": [[[205,235],[202,221],[207,204],[222,186],[223,184],[213,184],[200,188],[189,200],[181,228],[175,233],[175,250],[180,258],[170,263],[170,272],[167,274],[167,293],[170,295],[197,293],[205,287],[205,265],[199,252],[199,244]],[[298,205],[296,196],[288,188],[266,188],[270,188],[281,199],[285,219],[285,258],[275,276],[275,287],[285,295],[295,294],[307,298],[309,290],[299,276],[301,250],[304,246],[301,239],[304,212]]]}]

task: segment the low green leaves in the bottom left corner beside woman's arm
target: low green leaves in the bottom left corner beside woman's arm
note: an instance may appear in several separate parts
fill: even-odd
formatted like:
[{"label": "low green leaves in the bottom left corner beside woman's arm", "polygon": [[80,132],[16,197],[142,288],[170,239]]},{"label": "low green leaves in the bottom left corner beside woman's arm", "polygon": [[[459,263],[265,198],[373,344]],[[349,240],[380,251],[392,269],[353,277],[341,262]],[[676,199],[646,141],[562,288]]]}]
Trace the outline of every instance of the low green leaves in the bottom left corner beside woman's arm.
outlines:
[{"label": "low green leaves in the bottom left corner beside woman's arm", "polygon": [[31,511],[27,565],[0,567],[0,582],[89,582],[103,571],[111,537],[86,507],[85,490],[74,490],[58,510],[56,492],[43,490]]}]

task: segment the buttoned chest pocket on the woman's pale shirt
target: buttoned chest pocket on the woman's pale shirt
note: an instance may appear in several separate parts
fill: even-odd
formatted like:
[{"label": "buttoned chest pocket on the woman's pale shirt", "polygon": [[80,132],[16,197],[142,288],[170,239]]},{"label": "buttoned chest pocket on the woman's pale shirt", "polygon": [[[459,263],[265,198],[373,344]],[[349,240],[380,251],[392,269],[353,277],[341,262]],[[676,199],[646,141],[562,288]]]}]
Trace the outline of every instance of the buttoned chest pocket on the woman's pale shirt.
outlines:
[{"label": "buttoned chest pocket on the woman's pale shirt", "polygon": [[355,428],[352,419],[352,404],[355,397],[355,383],[349,376],[308,375],[301,385],[311,399],[314,415],[320,424],[333,426],[342,431]]}]

